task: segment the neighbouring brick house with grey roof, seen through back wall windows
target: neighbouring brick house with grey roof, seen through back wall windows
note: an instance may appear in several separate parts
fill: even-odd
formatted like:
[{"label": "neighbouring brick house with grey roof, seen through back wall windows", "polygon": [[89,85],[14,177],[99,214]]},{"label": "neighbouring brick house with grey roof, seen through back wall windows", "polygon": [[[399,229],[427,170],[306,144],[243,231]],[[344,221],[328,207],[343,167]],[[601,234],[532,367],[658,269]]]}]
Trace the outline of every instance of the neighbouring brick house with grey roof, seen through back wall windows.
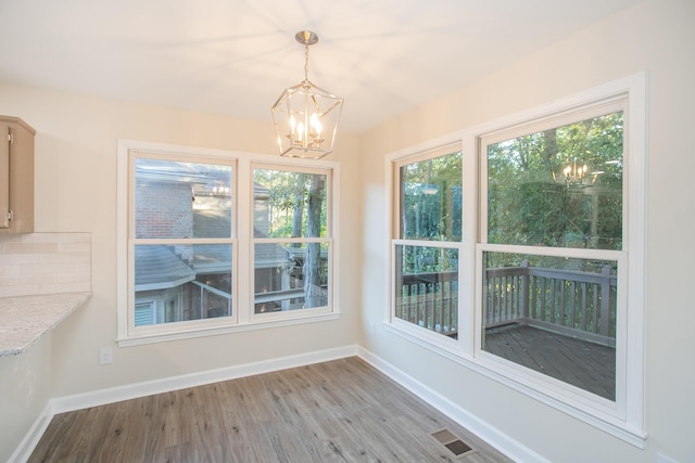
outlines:
[{"label": "neighbouring brick house with grey roof, seen through back wall windows", "polygon": [[[230,236],[231,194],[223,176],[186,163],[141,159],[136,177],[138,237]],[[255,236],[269,234],[268,201],[269,190],[255,183]],[[256,313],[302,308],[296,269],[303,253],[274,243],[255,246]],[[230,316],[231,253],[217,244],[136,246],[136,325]]]}]

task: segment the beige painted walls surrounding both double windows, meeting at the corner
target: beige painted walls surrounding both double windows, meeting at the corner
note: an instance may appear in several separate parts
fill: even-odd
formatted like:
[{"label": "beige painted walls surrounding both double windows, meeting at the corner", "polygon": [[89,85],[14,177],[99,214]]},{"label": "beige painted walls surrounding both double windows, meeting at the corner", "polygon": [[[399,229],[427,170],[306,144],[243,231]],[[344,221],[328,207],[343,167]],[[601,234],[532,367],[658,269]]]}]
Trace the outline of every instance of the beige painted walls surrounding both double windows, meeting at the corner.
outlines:
[{"label": "beige painted walls surrounding both double windows, meeting at the corner", "polygon": [[[50,362],[41,356],[28,356],[21,360],[26,373],[17,382],[34,371],[41,371],[43,378],[50,374],[52,390],[37,396],[36,403],[42,407],[49,396],[361,340],[377,356],[551,461],[654,462],[659,452],[681,462],[692,460],[695,304],[691,263],[695,247],[690,233],[695,226],[695,202],[687,187],[695,172],[688,137],[695,107],[693,20],[692,0],[647,0],[359,138],[341,134],[339,151],[330,157],[340,162],[342,173],[340,320],[127,348],[114,343],[116,140],[275,154],[269,124],[0,85],[1,112],[24,118],[37,130],[37,231],[89,232],[92,243],[93,296],[45,338],[51,339],[50,346],[33,347],[38,353],[52,352],[52,373],[46,371]],[[649,438],[644,451],[393,336],[380,325],[388,310],[387,154],[640,70],[647,70],[649,78]],[[371,322],[376,322],[375,334],[366,330]],[[102,346],[114,346],[112,365],[98,364]],[[3,375],[13,368],[0,363]],[[0,399],[10,394],[0,390]],[[26,415],[26,410],[16,413],[21,420]],[[4,439],[5,429],[1,433]],[[5,443],[0,440],[3,447]]]}]

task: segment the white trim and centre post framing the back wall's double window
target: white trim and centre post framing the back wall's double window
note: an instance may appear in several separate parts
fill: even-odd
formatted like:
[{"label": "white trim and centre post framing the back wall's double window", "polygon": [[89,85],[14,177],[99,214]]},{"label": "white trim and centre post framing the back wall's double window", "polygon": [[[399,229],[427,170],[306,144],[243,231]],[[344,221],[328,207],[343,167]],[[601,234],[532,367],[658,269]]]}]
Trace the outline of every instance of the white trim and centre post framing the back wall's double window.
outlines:
[{"label": "white trim and centre post framing the back wall's double window", "polygon": [[[232,260],[233,260],[233,317],[202,319],[187,321],[185,323],[170,323],[169,326],[153,326],[151,330],[138,330],[135,333],[128,327],[129,320],[129,287],[132,282],[128,279],[128,262],[132,256],[128,256],[128,227],[129,227],[129,207],[132,198],[129,196],[129,153],[130,151],[166,153],[174,157],[181,156],[189,158],[204,157],[208,160],[224,159],[228,163],[235,160],[235,192],[233,202],[237,208],[236,218],[232,218],[232,229],[236,235],[231,240],[223,240],[232,242]],[[253,163],[264,166],[276,166],[286,169],[323,169],[329,170],[331,181],[331,253],[330,262],[332,271],[330,274],[330,306],[325,310],[298,310],[282,317],[254,317],[253,314],[253,207],[252,192],[253,182],[251,179]],[[241,193],[245,192],[245,193]],[[251,193],[249,193],[251,192]],[[254,330],[264,330],[279,326],[290,326],[301,323],[313,323],[340,318],[339,307],[339,287],[336,284],[339,281],[339,253],[334,250],[338,240],[339,230],[339,192],[340,192],[340,166],[338,163],[329,160],[299,159],[299,158],[281,158],[270,157],[264,154],[232,152],[226,150],[214,150],[197,146],[184,146],[167,143],[147,142],[140,140],[119,139],[117,142],[117,213],[116,213],[116,291],[117,291],[117,338],[119,347],[137,346],[142,344],[153,344],[161,342],[170,342],[178,339],[187,339],[192,337],[211,336],[228,333],[238,333]],[[251,195],[251,196],[249,196]],[[245,223],[243,218],[245,219]],[[239,223],[237,223],[239,221]],[[212,239],[212,241],[215,241]],[[238,270],[242,269],[242,270]],[[250,271],[243,271],[250,269]],[[245,288],[245,291],[244,291]],[[175,325],[175,326],[170,326]]]}]

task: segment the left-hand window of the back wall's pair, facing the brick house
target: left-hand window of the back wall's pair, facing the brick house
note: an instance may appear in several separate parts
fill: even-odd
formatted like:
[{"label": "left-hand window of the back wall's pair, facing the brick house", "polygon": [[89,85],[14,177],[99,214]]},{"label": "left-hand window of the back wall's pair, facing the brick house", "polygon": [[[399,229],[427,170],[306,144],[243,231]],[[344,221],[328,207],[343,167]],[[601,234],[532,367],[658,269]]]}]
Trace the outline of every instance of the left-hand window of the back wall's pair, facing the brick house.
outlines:
[{"label": "left-hand window of the back wall's pair, facing the brick house", "polygon": [[127,332],[236,321],[232,160],[131,150]]}]

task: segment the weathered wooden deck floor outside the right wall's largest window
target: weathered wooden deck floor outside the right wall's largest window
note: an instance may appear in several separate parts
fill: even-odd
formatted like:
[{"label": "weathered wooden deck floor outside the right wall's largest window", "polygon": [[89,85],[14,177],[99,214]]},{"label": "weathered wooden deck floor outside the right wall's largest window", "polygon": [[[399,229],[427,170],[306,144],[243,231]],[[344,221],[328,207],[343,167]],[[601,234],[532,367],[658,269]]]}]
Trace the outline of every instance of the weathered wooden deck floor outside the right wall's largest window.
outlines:
[{"label": "weathered wooden deck floor outside the right wall's largest window", "polygon": [[616,399],[616,350],[523,324],[490,329],[484,350],[609,400]]}]

